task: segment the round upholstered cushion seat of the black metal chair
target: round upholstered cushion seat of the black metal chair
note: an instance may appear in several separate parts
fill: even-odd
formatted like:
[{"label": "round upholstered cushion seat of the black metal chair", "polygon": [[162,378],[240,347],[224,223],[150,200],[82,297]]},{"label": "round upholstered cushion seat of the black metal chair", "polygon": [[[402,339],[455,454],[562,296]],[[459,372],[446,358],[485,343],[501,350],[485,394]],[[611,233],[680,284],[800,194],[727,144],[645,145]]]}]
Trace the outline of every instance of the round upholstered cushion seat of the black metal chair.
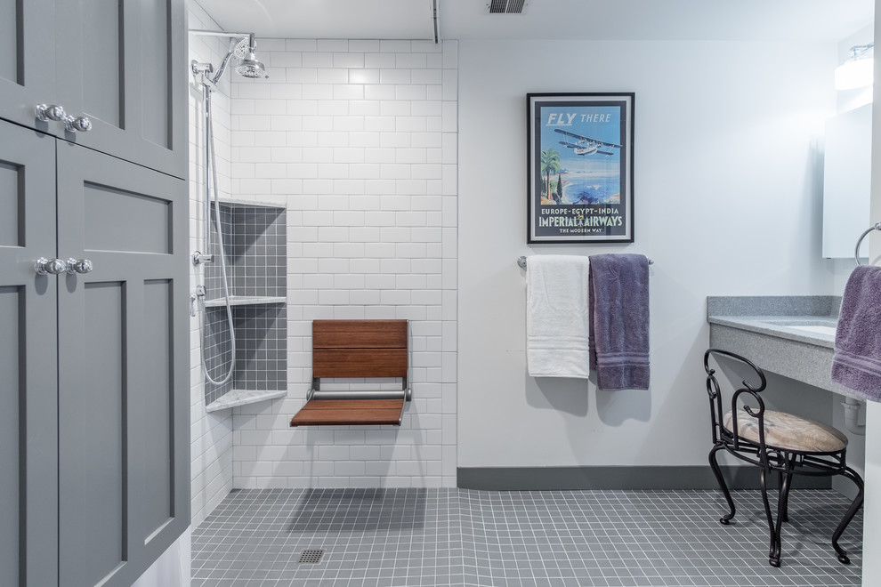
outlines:
[{"label": "round upholstered cushion seat of the black metal chair", "polygon": [[[725,414],[725,430],[733,432],[731,412]],[[758,420],[740,411],[737,417],[738,436],[759,444]],[[764,442],[769,448],[804,453],[836,453],[847,446],[847,437],[836,428],[784,412],[764,412]]]}]

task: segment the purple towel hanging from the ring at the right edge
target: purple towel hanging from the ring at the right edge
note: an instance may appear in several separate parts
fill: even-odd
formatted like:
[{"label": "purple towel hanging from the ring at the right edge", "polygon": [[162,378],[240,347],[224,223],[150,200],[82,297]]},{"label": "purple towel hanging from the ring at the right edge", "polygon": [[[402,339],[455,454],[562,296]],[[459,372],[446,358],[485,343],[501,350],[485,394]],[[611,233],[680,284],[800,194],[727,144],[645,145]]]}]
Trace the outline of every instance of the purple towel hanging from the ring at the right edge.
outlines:
[{"label": "purple towel hanging from the ring at the right edge", "polygon": [[832,389],[881,401],[881,267],[861,265],[847,279],[835,333]]}]

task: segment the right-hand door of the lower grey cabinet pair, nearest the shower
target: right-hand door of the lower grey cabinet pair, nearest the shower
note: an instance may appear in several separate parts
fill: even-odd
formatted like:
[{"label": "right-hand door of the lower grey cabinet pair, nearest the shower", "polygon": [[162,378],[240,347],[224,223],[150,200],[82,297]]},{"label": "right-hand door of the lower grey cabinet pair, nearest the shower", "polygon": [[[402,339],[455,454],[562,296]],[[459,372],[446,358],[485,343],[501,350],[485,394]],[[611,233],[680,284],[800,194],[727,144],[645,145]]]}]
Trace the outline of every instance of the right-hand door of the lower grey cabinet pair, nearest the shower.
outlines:
[{"label": "right-hand door of the lower grey cabinet pair, nearest the shower", "polygon": [[[59,250],[94,268],[65,276],[59,294],[59,406],[72,414],[59,431],[60,574],[128,585],[190,523],[188,190],[91,149],[58,150]],[[89,234],[111,221],[122,229]],[[84,527],[98,518],[104,527]]]}]

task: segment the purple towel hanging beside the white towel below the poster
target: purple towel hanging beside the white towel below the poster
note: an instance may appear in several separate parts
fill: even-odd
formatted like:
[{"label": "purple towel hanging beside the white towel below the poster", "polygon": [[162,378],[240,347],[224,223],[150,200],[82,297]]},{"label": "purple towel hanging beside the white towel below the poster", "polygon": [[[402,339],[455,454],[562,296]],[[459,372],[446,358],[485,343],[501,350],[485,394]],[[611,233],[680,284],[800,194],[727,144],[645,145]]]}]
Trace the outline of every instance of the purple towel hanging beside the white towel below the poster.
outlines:
[{"label": "purple towel hanging beside the white towel below the poster", "polygon": [[649,389],[649,260],[590,257],[590,368],[600,390]]}]

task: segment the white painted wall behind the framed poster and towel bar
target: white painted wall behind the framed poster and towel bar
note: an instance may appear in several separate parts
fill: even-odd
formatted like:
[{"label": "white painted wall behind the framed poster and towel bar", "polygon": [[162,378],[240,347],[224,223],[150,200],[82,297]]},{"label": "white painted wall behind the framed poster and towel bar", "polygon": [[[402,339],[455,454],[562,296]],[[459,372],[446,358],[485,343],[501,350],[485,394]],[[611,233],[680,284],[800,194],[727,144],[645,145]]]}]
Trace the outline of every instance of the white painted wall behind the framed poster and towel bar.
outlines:
[{"label": "white painted wall behind the framed poster and towel bar", "polygon": [[[705,464],[707,295],[832,289],[818,151],[837,45],[459,51],[459,466]],[[635,92],[633,245],[526,245],[526,93],[578,91]],[[655,261],[651,390],[530,378],[517,257],[624,252]]]}]

